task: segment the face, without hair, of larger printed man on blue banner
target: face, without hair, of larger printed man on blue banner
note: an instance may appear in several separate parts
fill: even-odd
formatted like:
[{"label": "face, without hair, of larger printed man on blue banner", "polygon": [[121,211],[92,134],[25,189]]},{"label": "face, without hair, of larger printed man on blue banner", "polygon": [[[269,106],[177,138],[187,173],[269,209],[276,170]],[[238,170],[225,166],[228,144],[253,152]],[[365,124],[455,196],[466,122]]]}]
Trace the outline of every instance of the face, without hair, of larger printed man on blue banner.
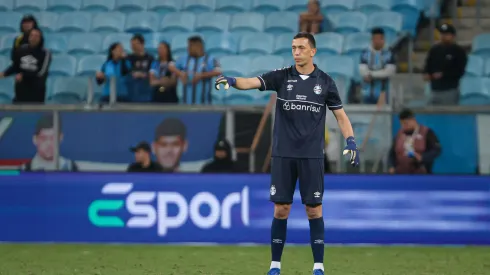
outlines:
[{"label": "face, without hair, of larger printed man on blue banner", "polygon": [[180,136],[162,136],[153,142],[155,156],[164,169],[179,167],[182,154],[187,151],[187,141]]}]

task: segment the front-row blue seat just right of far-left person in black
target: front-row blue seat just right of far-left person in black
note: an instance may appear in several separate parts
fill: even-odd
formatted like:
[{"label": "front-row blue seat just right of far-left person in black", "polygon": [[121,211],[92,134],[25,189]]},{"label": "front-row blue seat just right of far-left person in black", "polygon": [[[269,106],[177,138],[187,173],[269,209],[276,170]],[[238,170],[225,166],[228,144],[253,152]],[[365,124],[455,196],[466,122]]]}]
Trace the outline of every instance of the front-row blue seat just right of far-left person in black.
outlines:
[{"label": "front-row blue seat just right of far-left person in black", "polygon": [[87,91],[88,79],[85,77],[57,77],[47,103],[80,104],[87,97]]}]

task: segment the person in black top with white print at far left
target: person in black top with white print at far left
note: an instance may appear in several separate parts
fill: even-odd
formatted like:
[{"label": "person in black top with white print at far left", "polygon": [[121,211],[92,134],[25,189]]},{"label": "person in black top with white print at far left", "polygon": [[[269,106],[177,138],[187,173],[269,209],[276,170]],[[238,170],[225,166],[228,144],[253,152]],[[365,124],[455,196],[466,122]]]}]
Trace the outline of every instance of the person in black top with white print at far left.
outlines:
[{"label": "person in black top with white print at far left", "polygon": [[39,29],[32,29],[28,36],[29,45],[15,52],[12,64],[0,73],[0,78],[15,74],[15,103],[43,103],[51,53],[44,48]]}]

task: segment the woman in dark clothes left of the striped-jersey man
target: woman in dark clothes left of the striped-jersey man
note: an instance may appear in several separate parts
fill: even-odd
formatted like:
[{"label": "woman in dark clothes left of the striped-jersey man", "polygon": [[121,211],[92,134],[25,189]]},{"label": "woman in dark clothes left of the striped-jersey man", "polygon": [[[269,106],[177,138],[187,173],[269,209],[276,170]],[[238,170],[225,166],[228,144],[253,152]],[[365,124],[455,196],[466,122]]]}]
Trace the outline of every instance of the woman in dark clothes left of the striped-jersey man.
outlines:
[{"label": "woman in dark clothes left of the striped-jersey man", "polygon": [[150,70],[150,85],[153,87],[153,101],[178,103],[177,79],[168,68],[173,61],[172,50],[166,42],[158,45],[158,60],[153,61]]}]

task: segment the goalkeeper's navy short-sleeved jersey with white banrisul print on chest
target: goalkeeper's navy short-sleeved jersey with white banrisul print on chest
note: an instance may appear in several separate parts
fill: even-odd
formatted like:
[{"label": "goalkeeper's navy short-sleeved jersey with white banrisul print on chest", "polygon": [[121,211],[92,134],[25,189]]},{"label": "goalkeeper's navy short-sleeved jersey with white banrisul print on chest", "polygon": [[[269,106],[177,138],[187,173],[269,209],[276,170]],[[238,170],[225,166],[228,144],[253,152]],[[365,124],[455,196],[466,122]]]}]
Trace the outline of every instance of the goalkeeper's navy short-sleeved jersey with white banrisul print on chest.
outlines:
[{"label": "goalkeeper's navy short-sleeved jersey with white banrisul print on chest", "polygon": [[309,75],[293,65],[257,78],[261,91],[277,92],[272,156],[323,158],[326,109],[342,108],[333,79],[316,65]]}]

